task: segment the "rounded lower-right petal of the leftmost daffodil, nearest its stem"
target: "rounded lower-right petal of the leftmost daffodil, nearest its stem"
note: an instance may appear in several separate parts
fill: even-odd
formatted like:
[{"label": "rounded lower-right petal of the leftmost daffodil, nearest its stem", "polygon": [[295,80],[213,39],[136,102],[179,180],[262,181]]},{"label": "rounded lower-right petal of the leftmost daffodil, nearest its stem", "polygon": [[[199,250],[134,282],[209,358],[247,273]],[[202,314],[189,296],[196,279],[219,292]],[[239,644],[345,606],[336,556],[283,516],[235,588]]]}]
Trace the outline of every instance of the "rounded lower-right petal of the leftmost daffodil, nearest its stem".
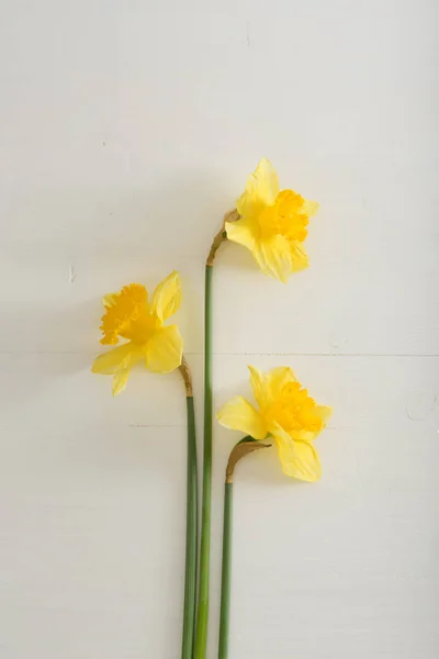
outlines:
[{"label": "rounded lower-right petal of the leftmost daffodil, nearest its stem", "polygon": [[183,339],[177,325],[161,327],[146,345],[146,367],[158,373],[178,368],[183,355]]}]

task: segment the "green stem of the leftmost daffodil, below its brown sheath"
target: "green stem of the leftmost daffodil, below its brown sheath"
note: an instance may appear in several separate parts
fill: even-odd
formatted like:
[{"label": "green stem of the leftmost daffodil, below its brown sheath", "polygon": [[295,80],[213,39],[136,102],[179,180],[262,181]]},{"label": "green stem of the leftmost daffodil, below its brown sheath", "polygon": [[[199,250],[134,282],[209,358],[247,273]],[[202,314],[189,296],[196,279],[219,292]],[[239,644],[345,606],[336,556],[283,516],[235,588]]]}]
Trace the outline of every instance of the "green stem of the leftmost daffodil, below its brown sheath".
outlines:
[{"label": "green stem of the leftmost daffodil, below its brown sheath", "polygon": [[185,526],[185,578],[181,659],[192,659],[195,626],[196,551],[198,551],[198,476],[195,417],[192,395],[187,396],[188,410],[188,477]]}]

